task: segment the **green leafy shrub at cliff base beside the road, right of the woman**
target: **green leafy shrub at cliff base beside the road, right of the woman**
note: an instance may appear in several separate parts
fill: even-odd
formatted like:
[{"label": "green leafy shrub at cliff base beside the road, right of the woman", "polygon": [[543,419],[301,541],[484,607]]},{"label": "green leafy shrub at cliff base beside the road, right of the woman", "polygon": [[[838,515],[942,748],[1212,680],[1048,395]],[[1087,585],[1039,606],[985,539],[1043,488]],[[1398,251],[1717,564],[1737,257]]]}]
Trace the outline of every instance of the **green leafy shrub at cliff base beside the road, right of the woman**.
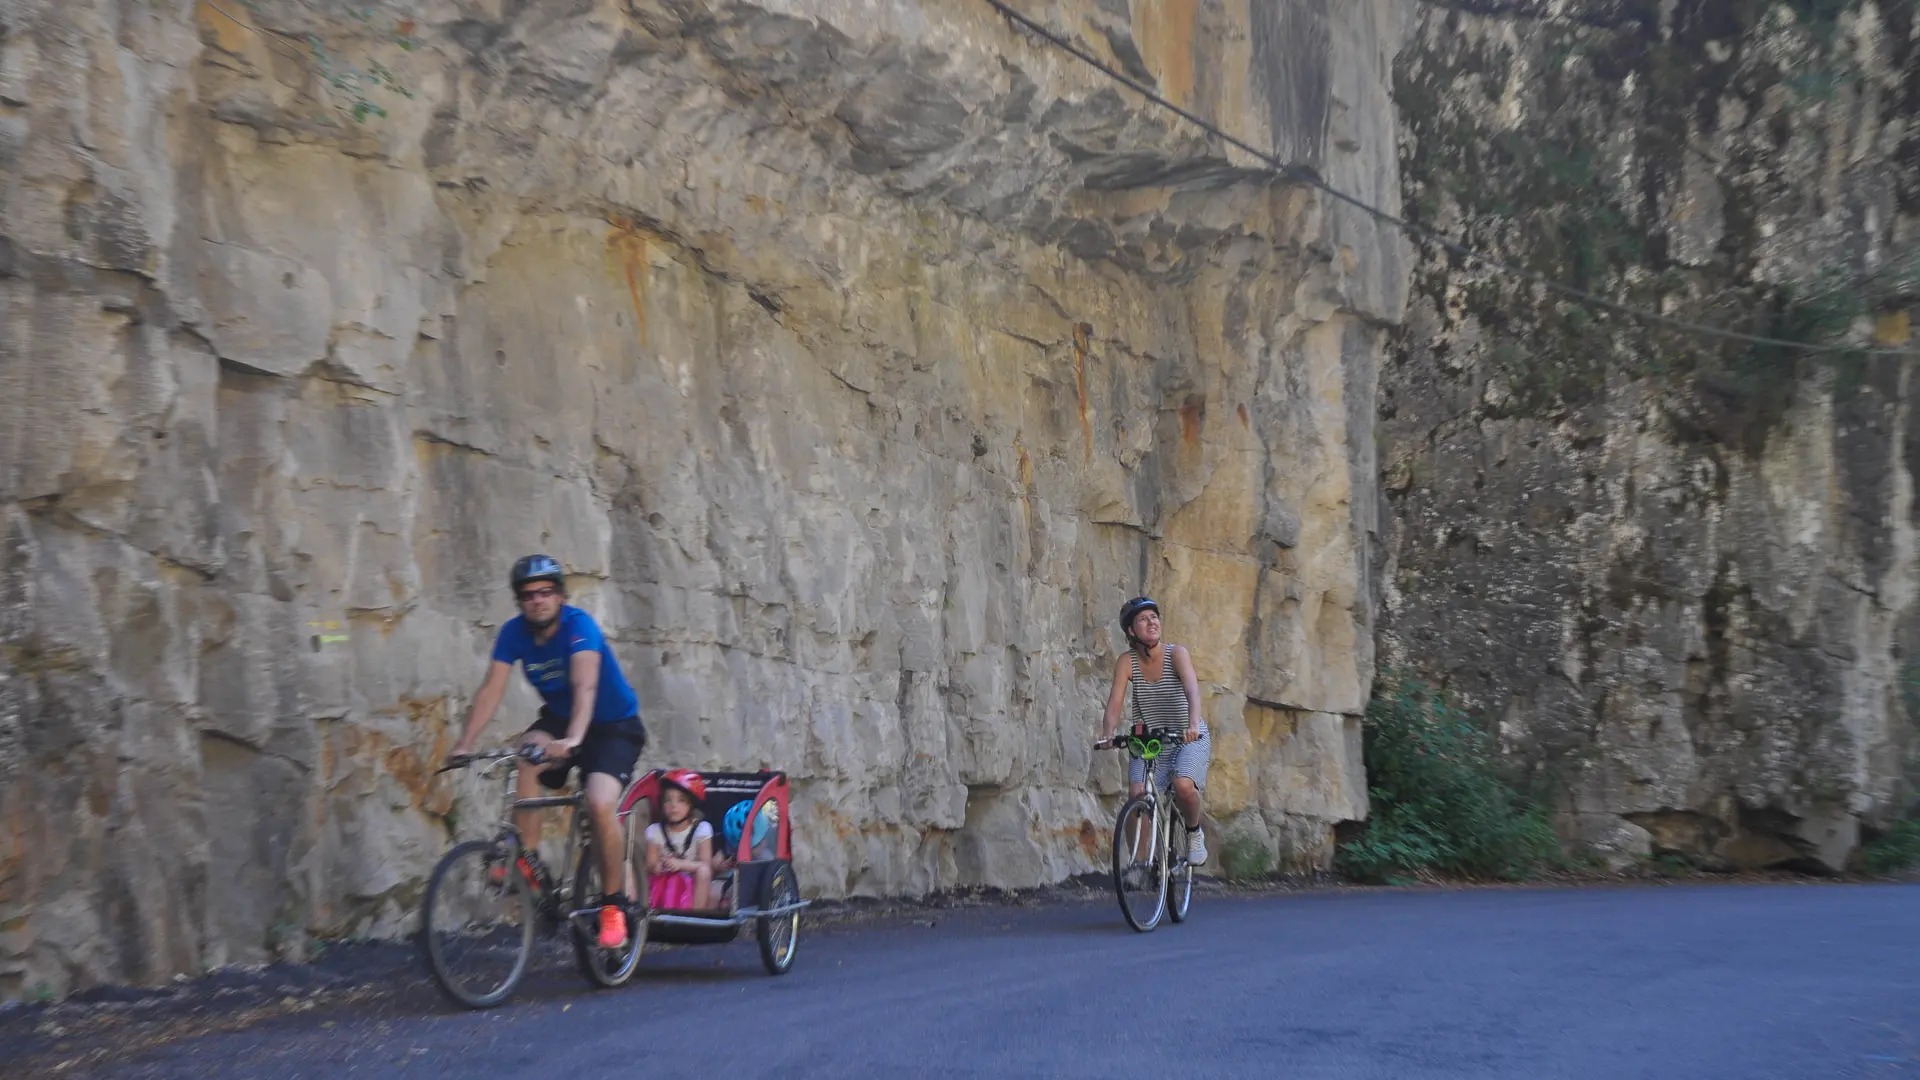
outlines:
[{"label": "green leafy shrub at cliff base beside the road, right of the woman", "polygon": [[1561,865],[1546,807],[1500,774],[1492,736],[1440,694],[1400,680],[1367,705],[1373,817],[1336,867],[1367,882],[1411,876],[1524,880]]}]

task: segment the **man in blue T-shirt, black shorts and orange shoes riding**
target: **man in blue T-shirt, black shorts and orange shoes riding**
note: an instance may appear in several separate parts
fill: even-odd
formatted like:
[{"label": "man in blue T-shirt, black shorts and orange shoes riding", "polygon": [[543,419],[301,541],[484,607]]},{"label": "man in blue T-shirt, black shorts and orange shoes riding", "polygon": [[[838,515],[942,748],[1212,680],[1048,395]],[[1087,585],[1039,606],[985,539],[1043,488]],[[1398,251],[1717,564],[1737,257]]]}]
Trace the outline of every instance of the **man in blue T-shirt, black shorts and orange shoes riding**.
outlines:
[{"label": "man in blue T-shirt, black shorts and orange shoes riding", "polygon": [[[467,728],[447,757],[474,751],[480,730],[493,721],[513,665],[545,701],[540,719],[522,736],[540,748],[541,763],[520,761],[518,798],[532,799],[540,784],[559,790],[566,774],[580,767],[588,815],[593,821],[593,847],[601,859],[601,880],[622,882],[620,894],[603,897],[599,944],[618,949],[626,944],[626,909],[636,905],[634,882],[626,872],[626,838],[620,834],[618,803],[634,765],[647,746],[639,723],[639,698],[620,673],[607,636],[586,611],[566,603],[566,575],[551,555],[526,555],[509,575],[520,613],[499,628],[493,659],[467,711]],[[515,824],[528,857],[540,846],[540,811],[516,811]],[[612,888],[612,886],[609,886]],[[626,903],[616,903],[624,899]]]}]

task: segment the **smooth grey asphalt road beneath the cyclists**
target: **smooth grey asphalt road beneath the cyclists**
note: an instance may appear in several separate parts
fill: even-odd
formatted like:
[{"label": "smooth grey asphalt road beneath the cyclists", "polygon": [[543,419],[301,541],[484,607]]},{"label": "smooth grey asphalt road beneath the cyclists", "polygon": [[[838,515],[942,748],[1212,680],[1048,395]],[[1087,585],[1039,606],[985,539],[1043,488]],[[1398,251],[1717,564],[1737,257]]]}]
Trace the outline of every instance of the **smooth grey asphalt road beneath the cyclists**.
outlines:
[{"label": "smooth grey asphalt road beneath the cyclists", "polygon": [[[931,924],[929,924],[931,922]],[[1920,888],[1667,886],[983,907],[564,967],[492,1013],[424,990],[60,1076],[1920,1078]]]}]

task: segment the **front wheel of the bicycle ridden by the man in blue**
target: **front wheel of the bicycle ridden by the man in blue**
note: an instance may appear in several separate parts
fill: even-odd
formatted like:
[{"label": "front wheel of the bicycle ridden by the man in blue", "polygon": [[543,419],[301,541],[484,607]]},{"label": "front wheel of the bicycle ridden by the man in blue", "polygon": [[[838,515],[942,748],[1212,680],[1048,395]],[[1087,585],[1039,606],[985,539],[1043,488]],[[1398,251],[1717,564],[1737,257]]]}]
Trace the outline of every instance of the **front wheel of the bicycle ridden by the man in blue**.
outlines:
[{"label": "front wheel of the bicycle ridden by the man in blue", "polygon": [[515,844],[468,840],[442,855],[426,884],[426,967],[468,1009],[505,1001],[534,953],[534,892],[518,863]]}]

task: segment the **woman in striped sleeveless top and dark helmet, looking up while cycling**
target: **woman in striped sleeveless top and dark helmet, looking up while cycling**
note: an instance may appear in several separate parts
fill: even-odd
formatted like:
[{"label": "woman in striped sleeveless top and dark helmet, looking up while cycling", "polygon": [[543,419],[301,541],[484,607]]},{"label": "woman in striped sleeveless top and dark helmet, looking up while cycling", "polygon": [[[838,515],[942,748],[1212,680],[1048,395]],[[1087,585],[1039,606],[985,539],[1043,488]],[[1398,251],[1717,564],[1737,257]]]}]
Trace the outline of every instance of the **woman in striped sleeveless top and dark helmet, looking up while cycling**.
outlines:
[{"label": "woman in striped sleeveless top and dark helmet, looking up while cycling", "polygon": [[[1185,646],[1167,644],[1160,636],[1160,605],[1137,596],[1119,607],[1119,630],[1127,634],[1127,655],[1114,665],[1114,686],[1106,696],[1106,715],[1100,721],[1100,742],[1112,742],[1119,730],[1121,705],[1133,686],[1133,717],[1162,740],[1171,742],[1154,759],[1154,786],[1165,786],[1173,776],[1173,801],[1190,830],[1187,861],[1206,865],[1206,836],[1200,832],[1200,792],[1206,790],[1206,769],[1213,759],[1206,719],[1200,717],[1200,680]],[[1148,678],[1152,676],[1152,678]],[[1177,740],[1169,736],[1179,736]],[[1127,771],[1129,796],[1146,790],[1146,763],[1135,759]]]}]

